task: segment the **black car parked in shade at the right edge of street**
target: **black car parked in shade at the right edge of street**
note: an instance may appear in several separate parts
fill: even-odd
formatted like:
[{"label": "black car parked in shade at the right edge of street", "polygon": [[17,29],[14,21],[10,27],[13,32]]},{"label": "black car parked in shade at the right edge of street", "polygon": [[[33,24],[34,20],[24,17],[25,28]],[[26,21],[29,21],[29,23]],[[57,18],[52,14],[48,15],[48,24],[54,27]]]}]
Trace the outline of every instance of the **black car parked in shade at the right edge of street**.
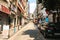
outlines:
[{"label": "black car parked in shade at the right edge of street", "polygon": [[57,23],[51,22],[48,23],[48,25],[46,25],[45,27],[44,25],[42,25],[42,27],[40,27],[39,29],[44,37],[60,35],[60,22]]}]

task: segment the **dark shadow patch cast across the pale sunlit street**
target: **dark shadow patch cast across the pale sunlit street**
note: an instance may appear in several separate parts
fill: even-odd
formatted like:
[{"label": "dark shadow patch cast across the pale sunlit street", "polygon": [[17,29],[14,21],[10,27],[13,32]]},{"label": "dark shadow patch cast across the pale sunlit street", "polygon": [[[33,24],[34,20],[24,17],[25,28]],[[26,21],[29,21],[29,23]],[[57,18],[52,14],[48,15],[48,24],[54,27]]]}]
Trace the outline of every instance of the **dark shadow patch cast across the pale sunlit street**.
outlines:
[{"label": "dark shadow patch cast across the pale sunlit street", "polygon": [[27,30],[24,31],[22,35],[29,35],[31,38],[34,38],[34,40],[43,40],[41,39],[38,30]]}]

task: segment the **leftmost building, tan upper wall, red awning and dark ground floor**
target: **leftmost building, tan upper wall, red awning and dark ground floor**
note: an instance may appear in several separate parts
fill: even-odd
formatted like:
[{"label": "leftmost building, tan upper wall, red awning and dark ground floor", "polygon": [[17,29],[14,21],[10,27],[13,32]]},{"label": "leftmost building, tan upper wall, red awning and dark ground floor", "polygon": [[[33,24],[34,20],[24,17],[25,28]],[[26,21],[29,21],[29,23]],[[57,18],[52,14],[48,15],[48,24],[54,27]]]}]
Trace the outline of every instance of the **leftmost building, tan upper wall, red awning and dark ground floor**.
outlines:
[{"label": "leftmost building, tan upper wall, red awning and dark ground floor", "polygon": [[4,25],[9,25],[9,4],[6,0],[0,0],[0,25],[1,31],[3,30]]}]

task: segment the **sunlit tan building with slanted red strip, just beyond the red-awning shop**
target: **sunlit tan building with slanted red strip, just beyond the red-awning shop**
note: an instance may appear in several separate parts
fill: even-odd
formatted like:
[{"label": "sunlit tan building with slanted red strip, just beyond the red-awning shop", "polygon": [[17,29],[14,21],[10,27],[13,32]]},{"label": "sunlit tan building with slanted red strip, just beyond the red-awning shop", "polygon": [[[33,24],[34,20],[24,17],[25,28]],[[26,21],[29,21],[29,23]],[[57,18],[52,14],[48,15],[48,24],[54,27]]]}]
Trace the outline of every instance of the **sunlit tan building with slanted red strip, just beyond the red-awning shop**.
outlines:
[{"label": "sunlit tan building with slanted red strip, just beyond the red-awning shop", "polygon": [[27,18],[27,0],[10,0],[10,27],[14,28],[14,33],[16,32],[16,27],[24,25],[25,19]]}]

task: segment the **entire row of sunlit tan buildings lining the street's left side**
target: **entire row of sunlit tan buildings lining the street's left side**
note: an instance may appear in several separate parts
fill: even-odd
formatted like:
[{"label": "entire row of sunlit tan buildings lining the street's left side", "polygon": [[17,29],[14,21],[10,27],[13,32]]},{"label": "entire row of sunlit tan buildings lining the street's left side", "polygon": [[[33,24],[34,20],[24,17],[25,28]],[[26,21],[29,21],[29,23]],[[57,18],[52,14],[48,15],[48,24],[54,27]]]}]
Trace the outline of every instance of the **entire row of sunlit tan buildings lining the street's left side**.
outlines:
[{"label": "entire row of sunlit tan buildings lining the street's left side", "polygon": [[27,18],[27,1],[0,0],[0,25],[2,28],[3,25],[8,24],[10,29],[14,28],[12,31],[15,33],[16,27],[19,29],[21,24],[24,25],[24,20]]}]

